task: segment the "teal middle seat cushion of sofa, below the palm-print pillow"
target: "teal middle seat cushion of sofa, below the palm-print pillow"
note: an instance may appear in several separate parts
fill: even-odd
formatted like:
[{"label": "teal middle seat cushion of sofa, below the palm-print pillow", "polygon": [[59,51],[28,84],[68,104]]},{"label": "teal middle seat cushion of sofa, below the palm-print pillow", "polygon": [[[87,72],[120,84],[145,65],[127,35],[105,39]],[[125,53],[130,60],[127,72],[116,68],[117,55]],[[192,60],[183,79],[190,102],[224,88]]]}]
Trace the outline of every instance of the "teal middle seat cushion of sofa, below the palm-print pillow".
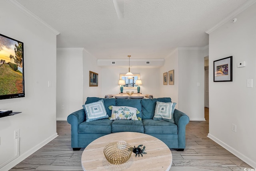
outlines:
[{"label": "teal middle seat cushion of sofa, below the palm-print pillow", "polygon": [[141,120],[114,120],[111,124],[112,133],[115,132],[140,132],[144,133]]}]

